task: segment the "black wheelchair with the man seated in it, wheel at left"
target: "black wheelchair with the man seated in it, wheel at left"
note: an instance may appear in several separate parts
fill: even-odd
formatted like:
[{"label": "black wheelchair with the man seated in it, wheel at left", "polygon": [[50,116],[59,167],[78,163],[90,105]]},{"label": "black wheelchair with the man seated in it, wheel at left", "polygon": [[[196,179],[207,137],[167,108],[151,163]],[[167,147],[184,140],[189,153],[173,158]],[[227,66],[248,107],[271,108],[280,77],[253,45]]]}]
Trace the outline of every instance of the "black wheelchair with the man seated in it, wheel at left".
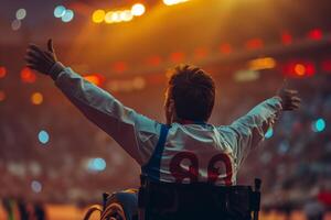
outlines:
[{"label": "black wheelchair with the man seated in it, wheel at left", "polygon": [[260,179],[252,186],[160,183],[141,176],[139,190],[103,195],[85,215],[100,220],[258,220]]}]

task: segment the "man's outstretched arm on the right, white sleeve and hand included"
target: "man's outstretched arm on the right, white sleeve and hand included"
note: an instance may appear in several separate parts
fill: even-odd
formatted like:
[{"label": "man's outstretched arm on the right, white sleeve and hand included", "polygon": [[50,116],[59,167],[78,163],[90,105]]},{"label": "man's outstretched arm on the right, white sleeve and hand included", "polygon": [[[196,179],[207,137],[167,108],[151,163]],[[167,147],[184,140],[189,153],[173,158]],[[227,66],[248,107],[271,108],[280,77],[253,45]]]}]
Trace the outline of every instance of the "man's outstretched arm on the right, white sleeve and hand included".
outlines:
[{"label": "man's outstretched arm on the right, white sleeve and hand included", "polygon": [[263,101],[229,127],[221,128],[229,134],[227,141],[234,145],[237,164],[242,164],[249,150],[259,145],[265,133],[274,125],[281,111],[296,110],[300,102],[298,91],[282,88],[277,92],[277,96]]}]

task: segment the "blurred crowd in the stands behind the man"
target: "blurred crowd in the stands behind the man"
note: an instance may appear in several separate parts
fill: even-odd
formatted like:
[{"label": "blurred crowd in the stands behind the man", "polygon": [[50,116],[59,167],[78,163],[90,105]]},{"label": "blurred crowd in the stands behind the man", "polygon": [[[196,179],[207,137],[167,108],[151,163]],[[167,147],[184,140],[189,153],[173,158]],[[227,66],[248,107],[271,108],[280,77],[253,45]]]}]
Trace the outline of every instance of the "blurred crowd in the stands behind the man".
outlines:
[{"label": "blurred crowd in the stands behind the man", "polygon": [[[217,70],[214,70],[217,73]],[[9,73],[10,75],[11,73]],[[41,202],[99,200],[103,191],[138,187],[139,167],[118,144],[90,124],[46,77],[23,84],[19,74],[2,84],[7,96],[0,102],[0,198]],[[277,73],[261,74],[248,82],[228,75],[214,75],[217,100],[211,123],[229,124],[281,86]],[[263,179],[264,207],[295,209],[317,199],[331,206],[331,76],[289,79],[302,106],[284,112],[261,146],[245,160],[238,184]],[[163,85],[147,85],[136,92],[114,92],[125,105],[163,121]],[[107,88],[105,88],[107,89]],[[43,102],[31,103],[31,94],[43,94]],[[325,128],[316,130],[317,120]],[[50,141],[39,141],[45,130]],[[102,157],[105,170],[90,170],[90,158]],[[38,183],[38,184],[36,184]]]}]

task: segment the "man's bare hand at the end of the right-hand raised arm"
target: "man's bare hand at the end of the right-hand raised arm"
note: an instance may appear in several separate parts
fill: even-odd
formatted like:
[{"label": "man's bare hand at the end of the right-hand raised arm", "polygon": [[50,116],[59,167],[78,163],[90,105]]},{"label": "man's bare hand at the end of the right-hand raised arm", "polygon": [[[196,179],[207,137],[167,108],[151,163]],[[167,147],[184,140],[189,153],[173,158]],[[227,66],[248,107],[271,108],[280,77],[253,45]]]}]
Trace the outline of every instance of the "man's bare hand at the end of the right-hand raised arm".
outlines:
[{"label": "man's bare hand at the end of the right-hand raised arm", "polygon": [[286,89],[286,81],[277,91],[277,96],[281,99],[281,106],[284,111],[293,111],[300,108],[301,99],[299,92],[292,89]]}]

